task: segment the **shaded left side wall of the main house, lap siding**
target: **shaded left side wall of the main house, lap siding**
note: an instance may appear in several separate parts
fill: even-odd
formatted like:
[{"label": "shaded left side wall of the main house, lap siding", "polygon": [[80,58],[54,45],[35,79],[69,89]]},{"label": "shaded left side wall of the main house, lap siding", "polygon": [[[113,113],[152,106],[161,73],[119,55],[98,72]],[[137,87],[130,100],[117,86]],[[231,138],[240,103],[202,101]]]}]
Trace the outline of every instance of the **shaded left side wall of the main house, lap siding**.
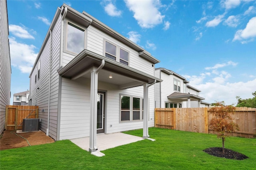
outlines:
[{"label": "shaded left side wall of the main house, lap siding", "polygon": [[[39,56],[40,78],[35,83],[35,70],[30,77],[30,100],[32,105],[39,106],[38,118],[41,119],[40,129],[46,133],[48,125],[48,99],[50,90],[50,123],[49,136],[57,140],[57,114],[58,114],[58,84],[59,76],[57,69],[60,64],[60,24],[61,18],[58,18],[54,29],[52,30],[52,58],[51,58],[51,76],[49,88],[49,60],[50,60],[50,36],[46,40],[46,45]],[[38,69],[38,62],[36,63]],[[39,89],[37,89],[39,88]],[[36,100],[36,104],[35,104]],[[43,111],[44,109],[44,111]]]}]

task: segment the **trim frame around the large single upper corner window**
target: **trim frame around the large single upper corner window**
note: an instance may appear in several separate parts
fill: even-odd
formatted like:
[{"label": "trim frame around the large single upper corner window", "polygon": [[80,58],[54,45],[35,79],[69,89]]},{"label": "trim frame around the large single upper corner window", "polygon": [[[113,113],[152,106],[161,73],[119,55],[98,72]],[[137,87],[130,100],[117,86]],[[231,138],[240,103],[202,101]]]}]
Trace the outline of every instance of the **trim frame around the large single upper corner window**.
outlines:
[{"label": "trim frame around the large single upper corner window", "polygon": [[79,27],[80,29],[83,29],[83,30],[84,30],[84,49],[87,48],[87,44],[86,44],[87,28],[84,27],[84,26],[82,26],[82,25],[80,25],[80,24],[78,24],[78,23],[75,23],[75,22],[73,22],[73,21],[70,21],[70,20],[68,20],[68,19],[65,19],[65,21],[64,21],[64,49],[63,49],[63,52],[64,52],[64,53],[68,53],[68,54],[70,54],[70,55],[78,55],[78,53],[74,53],[74,52],[72,52],[72,51],[68,51],[68,50],[67,50],[67,46],[68,46],[68,43],[67,43],[67,39],[68,39],[68,32],[67,32],[67,30],[68,30],[68,22],[71,23],[71,24],[73,24],[73,25],[75,25],[76,27]]}]

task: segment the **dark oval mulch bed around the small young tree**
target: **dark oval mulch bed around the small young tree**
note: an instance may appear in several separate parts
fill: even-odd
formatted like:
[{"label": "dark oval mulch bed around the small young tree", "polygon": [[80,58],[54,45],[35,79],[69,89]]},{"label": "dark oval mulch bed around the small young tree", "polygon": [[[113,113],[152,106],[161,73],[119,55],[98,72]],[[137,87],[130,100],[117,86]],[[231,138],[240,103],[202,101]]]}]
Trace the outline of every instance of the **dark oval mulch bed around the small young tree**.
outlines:
[{"label": "dark oval mulch bed around the small young tree", "polygon": [[204,152],[212,155],[212,156],[218,156],[221,158],[227,158],[227,159],[235,159],[235,160],[243,160],[248,158],[244,154],[241,154],[239,152],[235,152],[230,149],[225,149],[225,154],[222,154],[222,148],[221,147],[214,147],[214,148],[208,148],[204,149]]}]

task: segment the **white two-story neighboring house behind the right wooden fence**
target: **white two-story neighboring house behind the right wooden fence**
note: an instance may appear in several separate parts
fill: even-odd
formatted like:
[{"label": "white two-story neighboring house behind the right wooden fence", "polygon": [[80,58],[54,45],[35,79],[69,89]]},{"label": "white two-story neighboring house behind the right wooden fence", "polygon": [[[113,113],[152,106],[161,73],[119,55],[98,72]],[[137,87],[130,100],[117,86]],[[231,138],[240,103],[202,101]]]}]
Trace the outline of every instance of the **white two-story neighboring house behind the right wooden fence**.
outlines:
[{"label": "white two-story neighboring house behind the right wooden fence", "polygon": [[155,107],[201,107],[200,90],[189,86],[186,78],[166,68],[156,68],[155,76],[163,80],[155,85]]}]

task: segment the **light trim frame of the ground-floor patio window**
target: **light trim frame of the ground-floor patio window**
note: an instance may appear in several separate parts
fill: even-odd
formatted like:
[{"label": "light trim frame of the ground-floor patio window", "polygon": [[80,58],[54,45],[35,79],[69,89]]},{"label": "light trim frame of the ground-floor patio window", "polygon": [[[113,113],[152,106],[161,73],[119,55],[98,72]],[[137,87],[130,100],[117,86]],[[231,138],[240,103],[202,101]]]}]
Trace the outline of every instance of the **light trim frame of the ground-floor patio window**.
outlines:
[{"label": "light trim frame of the ground-floor patio window", "polygon": [[[127,96],[130,97],[130,120],[121,121],[121,96]],[[133,98],[140,98],[140,119],[139,120],[132,120],[132,114],[133,114]],[[143,114],[143,97],[140,96],[132,96],[128,94],[119,94],[119,123],[128,123],[128,122],[136,122],[136,121],[143,121],[142,114]]]}]

